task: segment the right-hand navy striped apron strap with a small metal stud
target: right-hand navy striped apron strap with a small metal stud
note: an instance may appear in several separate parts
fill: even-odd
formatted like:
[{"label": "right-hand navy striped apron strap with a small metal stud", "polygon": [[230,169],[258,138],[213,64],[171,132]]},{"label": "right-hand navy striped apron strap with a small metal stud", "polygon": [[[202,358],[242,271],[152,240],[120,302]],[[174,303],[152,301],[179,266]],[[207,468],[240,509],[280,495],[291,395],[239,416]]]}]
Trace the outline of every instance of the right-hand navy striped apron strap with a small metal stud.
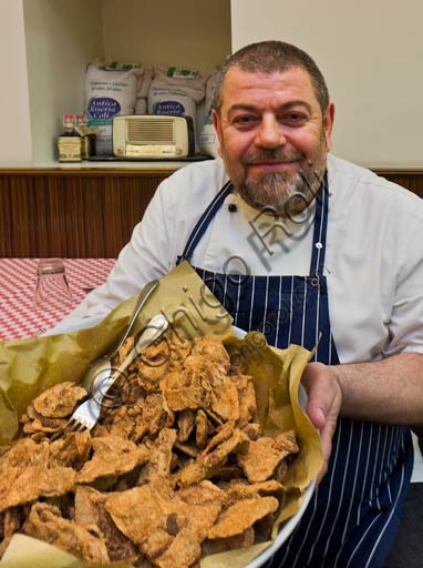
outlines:
[{"label": "right-hand navy striped apron strap with a small metal stud", "polygon": [[316,213],[313,229],[313,245],[311,251],[310,276],[323,275],[326,240],[329,213],[328,172],[324,172],[319,191],[316,195]]}]

